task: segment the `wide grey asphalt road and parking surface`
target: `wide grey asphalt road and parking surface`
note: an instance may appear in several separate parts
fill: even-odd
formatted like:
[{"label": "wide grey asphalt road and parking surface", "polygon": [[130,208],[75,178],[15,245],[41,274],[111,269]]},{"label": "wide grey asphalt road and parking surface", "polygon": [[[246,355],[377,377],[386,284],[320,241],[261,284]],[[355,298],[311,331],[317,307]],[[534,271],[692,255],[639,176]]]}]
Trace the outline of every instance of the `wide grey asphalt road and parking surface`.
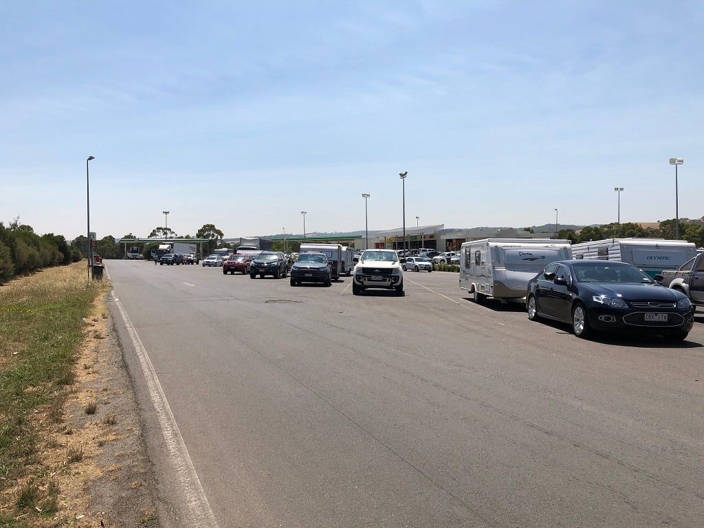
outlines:
[{"label": "wide grey asphalt road and parking surface", "polygon": [[456,274],[406,272],[396,297],[108,273],[170,526],[704,524],[703,315],[683,344],[583,341],[472,303]]}]

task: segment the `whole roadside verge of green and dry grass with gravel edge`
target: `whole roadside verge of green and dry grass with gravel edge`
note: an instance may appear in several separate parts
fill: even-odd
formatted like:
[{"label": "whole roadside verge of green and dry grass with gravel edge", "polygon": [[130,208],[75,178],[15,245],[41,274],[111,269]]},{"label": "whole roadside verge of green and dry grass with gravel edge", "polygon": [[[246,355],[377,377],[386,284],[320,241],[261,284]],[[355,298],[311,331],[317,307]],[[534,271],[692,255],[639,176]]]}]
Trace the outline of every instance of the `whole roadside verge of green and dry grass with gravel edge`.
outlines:
[{"label": "whole roadside verge of green and dry grass with gravel edge", "polygon": [[109,291],[84,263],[0,287],[0,527],[158,526]]}]

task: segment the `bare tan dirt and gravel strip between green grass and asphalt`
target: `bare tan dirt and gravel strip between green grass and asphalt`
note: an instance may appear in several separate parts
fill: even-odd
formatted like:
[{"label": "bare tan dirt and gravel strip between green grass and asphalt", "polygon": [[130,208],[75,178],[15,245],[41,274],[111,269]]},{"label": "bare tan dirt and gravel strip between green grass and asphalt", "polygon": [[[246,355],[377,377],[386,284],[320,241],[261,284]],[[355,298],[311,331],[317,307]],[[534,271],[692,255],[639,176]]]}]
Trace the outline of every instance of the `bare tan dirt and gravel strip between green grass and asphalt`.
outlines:
[{"label": "bare tan dirt and gravel strip between green grass and asphalt", "polygon": [[[18,519],[30,528],[158,527],[154,477],[127,369],[103,289],[84,320],[84,346],[63,409],[37,413],[42,455],[29,473],[57,486],[58,513]],[[24,482],[0,496],[15,500]]]}]

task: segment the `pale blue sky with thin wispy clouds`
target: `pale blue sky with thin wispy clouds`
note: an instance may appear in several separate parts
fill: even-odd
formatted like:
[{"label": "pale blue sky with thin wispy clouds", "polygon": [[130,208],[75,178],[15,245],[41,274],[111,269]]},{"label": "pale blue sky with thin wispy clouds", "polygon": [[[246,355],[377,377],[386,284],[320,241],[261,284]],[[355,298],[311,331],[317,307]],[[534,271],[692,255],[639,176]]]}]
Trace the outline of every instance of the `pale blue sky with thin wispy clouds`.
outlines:
[{"label": "pale blue sky with thin wispy clouds", "polygon": [[0,221],[226,237],[700,218],[700,1],[8,1]]}]

